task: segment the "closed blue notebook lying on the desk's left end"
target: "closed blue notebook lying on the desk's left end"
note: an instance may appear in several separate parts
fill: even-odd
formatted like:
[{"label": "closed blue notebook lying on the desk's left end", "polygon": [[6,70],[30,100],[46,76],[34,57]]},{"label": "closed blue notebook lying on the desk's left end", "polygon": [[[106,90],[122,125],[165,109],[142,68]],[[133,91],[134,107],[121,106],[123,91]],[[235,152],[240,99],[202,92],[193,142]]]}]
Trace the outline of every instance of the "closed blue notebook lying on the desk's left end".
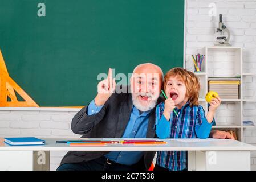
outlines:
[{"label": "closed blue notebook lying on the desk's left end", "polygon": [[31,146],[42,145],[45,141],[35,137],[18,137],[5,138],[5,143],[10,144],[11,146]]}]

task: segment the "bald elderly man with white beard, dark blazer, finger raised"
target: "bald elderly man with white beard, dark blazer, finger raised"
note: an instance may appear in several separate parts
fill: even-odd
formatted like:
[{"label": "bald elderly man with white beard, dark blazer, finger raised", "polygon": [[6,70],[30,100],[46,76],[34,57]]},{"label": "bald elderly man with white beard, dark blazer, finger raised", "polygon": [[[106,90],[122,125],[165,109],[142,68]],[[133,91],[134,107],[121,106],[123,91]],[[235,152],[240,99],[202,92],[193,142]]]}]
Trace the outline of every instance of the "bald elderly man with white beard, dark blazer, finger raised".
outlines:
[{"label": "bald elderly man with white beard, dark blazer, finger raised", "polygon": [[[162,102],[163,73],[157,65],[138,65],[125,93],[115,93],[115,80],[99,82],[93,101],[72,119],[71,129],[86,138],[155,138],[155,107]],[[131,93],[128,93],[131,91]],[[233,138],[224,131],[212,131],[213,138]],[[145,170],[155,151],[70,151],[58,168],[61,170]]]}]

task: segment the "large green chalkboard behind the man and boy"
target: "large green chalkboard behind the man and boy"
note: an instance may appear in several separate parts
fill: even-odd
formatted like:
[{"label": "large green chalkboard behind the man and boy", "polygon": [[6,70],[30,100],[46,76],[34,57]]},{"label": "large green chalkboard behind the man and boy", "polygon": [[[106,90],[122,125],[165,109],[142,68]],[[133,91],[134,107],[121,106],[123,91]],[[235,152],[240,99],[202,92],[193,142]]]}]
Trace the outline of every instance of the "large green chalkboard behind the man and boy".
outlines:
[{"label": "large green chalkboard behind the man and boy", "polygon": [[0,0],[9,75],[39,106],[88,104],[109,67],[127,76],[140,63],[182,67],[183,41],[180,0]]}]

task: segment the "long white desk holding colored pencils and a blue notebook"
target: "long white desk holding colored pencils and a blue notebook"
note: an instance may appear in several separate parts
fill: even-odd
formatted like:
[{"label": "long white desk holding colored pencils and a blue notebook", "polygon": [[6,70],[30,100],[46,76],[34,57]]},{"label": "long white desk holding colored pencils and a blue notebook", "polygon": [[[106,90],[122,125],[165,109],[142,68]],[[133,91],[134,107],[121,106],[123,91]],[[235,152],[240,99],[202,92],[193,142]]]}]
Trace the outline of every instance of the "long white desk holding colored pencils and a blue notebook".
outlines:
[{"label": "long white desk holding colored pencils and a blue notebook", "polygon": [[[49,169],[50,151],[188,151],[188,170],[250,170],[250,151],[256,150],[255,146],[229,139],[164,139],[168,144],[106,144],[86,147],[70,147],[66,143],[56,143],[57,140],[81,138],[40,139],[46,140],[44,146],[9,146],[3,143],[3,138],[0,139],[0,170]],[[88,138],[82,140],[85,139]]]}]

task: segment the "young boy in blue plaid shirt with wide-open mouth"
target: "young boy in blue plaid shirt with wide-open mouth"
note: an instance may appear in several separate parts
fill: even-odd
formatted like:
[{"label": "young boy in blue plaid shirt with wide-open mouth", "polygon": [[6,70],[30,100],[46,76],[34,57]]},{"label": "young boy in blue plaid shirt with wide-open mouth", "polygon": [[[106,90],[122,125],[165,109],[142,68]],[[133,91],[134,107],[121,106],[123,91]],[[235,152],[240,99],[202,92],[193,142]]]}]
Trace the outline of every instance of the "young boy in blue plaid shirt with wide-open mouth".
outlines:
[{"label": "young boy in blue plaid shirt with wide-open mouth", "polygon": [[[210,102],[208,114],[198,104],[200,82],[194,73],[173,68],[164,77],[168,99],[156,107],[156,134],[159,138],[208,138],[220,98]],[[178,117],[173,112],[178,113]],[[155,170],[187,169],[187,151],[158,151]]]}]

